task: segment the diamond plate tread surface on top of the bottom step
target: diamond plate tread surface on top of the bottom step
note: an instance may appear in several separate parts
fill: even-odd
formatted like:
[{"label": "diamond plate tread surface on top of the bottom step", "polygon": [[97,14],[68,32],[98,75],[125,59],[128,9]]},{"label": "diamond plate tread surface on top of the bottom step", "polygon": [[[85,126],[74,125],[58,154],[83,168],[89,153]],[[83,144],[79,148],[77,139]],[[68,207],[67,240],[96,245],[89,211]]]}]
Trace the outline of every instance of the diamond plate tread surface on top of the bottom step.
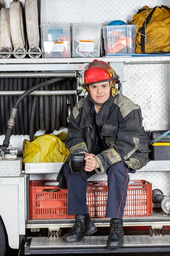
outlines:
[{"label": "diamond plate tread surface on top of the bottom step", "polygon": [[[108,236],[86,236],[77,243],[67,243],[62,238],[33,237],[31,249],[105,248]],[[124,247],[169,247],[170,236],[125,236]]]}]

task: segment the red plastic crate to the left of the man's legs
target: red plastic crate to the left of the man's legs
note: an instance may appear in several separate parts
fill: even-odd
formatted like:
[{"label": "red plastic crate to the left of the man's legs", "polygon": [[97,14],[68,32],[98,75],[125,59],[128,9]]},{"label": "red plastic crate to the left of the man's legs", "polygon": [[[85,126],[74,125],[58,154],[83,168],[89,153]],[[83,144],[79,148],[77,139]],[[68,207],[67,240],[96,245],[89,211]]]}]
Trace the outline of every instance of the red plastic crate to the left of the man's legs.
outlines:
[{"label": "red plastic crate to the left of the man's legs", "polygon": [[56,180],[30,181],[30,219],[73,218],[68,215],[68,190],[58,186],[45,186]]}]

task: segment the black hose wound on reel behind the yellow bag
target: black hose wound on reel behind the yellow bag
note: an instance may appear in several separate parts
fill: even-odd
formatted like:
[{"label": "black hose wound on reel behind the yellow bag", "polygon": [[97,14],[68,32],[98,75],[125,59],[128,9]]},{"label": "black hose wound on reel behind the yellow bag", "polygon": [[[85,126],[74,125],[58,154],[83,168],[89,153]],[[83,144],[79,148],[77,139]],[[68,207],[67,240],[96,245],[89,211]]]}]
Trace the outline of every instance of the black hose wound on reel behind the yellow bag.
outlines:
[{"label": "black hose wound on reel behind the yellow bag", "polygon": [[[22,90],[21,88],[21,80],[18,79],[19,81],[17,81],[16,84],[16,79],[14,79],[13,81],[13,87],[12,87],[12,81],[9,79],[5,79],[3,81],[0,82],[0,90],[16,90],[16,85],[19,88],[19,90]],[[67,79],[66,82],[63,81],[64,78],[54,78],[54,79],[45,79],[45,81],[43,81],[43,79],[37,79],[38,81],[36,82],[36,85],[34,86],[30,86],[30,81],[27,81],[26,79],[23,79],[24,84],[23,84],[23,88],[26,90],[28,88],[28,90],[26,90],[22,95],[20,95],[19,98],[13,98],[12,96],[9,96],[9,98],[7,96],[3,97],[4,100],[4,104],[2,103],[0,105],[0,113],[6,113],[5,114],[5,120],[8,119],[8,124],[7,127],[4,126],[4,124],[2,125],[1,128],[1,132],[4,132],[5,128],[6,132],[5,132],[5,139],[3,141],[3,145],[0,145],[0,157],[2,159],[5,159],[5,155],[7,154],[17,154],[17,148],[8,148],[9,146],[9,140],[12,134],[12,129],[14,128],[14,133],[15,134],[28,134],[28,122],[29,122],[29,135],[30,135],[30,140],[33,141],[34,140],[34,128],[35,130],[39,130],[40,128],[45,128],[46,130],[49,129],[49,120],[50,120],[50,115],[51,115],[51,127],[54,130],[56,127],[59,129],[60,124],[62,123],[62,125],[65,125],[66,127],[66,123],[67,122],[67,96],[64,95],[57,95],[57,96],[50,96],[51,97],[51,101],[49,101],[49,96],[47,96],[47,98],[45,98],[44,96],[44,102],[42,105],[38,104],[37,105],[37,96],[29,96],[28,99],[26,98],[26,96],[28,96],[30,93],[41,89],[44,87],[46,90],[48,90],[48,85],[52,85],[52,90],[54,90],[54,83],[59,83],[60,82],[60,87],[58,87],[58,90],[71,90],[71,83],[70,80]],[[4,86],[5,85],[5,81],[7,82],[8,86]],[[32,81],[32,80],[31,80]],[[31,83],[32,84],[32,83]],[[76,95],[79,95],[82,90],[81,89],[77,89],[75,90]],[[2,96],[1,96],[2,97]],[[17,96],[15,96],[17,97]],[[9,99],[11,98],[11,100],[9,101]],[[55,99],[54,99],[55,98]],[[46,101],[45,101],[46,99]],[[48,99],[48,100],[47,100]],[[64,100],[63,100],[64,99]],[[15,101],[16,100],[16,101]],[[23,108],[19,108],[20,102],[23,101]],[[69,101],[70,101],[70,108],[71,110],[74,108],[74,105],[76,104],[76,102],[74,102],[74,96],[69,95]],[[2,101],[3,102],[3,101]],[[15,103],[14,103],[15,102]],[[11,115],[9,117],[9,113],[5,112],[5,108],[6,106],[8,106],[8,108],[11,108],[11,105],[14,103],[14,106],[11,110]],[[59,106],[60,103],[60,106]],[[28,106],[28,112],[23,115],[24,111],[26,110],[26,106]],[[66,109],[63,109],[62,106]],[[29,109],[29,107],[31,107],[31,110]],[[56,108],[59,107],[56,111]],[[69,108],[69,113],[70,113],[70,108]],[[38,109],[38,111],[37,111]],[[18,115],[17,110],[20,112],[20,114]],[[39,113],[40,110],[40,113]],[[4,112],[3,112],[4,111]],[[44,124],[43,122],[41,122],[40,116],[44,111],[48,111],[48,114],[44,116]],[[57,113],[62,111],[62,115],[57,115]],[[57,112],[57,113],[56,113]],[[36,116],[37,115],[37,116]],[[41,116],[42,117],[42,116]],[[46,117],[46,119],[45,119]],[[2,118],[2,117],[1,117]],[[57,119],[58,118],[58,119]],[[64,118],[64,121],[63,121]],[[35,119],[35,122],[34,122]],[[40,119],[40,126],[39,126],[39,119]],[[59,120],[60,119],[60,120]],[[59,122],[60,121],[60,122]],[[20,124],[20,125],[19,125]],[[45,127],[46,125],[46,127]],[[4,126],[4,127],[3,127]],[[8,148],[8,149],[7,149]]]}]

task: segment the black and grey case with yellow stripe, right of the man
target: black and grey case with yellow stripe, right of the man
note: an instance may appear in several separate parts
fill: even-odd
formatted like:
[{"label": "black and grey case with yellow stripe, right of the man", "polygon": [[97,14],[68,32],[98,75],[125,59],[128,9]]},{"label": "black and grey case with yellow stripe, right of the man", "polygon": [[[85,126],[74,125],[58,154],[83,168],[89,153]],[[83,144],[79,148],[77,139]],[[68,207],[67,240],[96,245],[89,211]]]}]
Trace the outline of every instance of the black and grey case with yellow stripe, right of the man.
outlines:
[{"label": "black and grey case with yellow stripe, right of the man", "polygon": [[[164,132],[166,131],[149,131],[148,136],[150,140],[155,140]],[[150,145],[149,148],[151,150],[149,153],[150,160],[170,160],[170,134]]]}]

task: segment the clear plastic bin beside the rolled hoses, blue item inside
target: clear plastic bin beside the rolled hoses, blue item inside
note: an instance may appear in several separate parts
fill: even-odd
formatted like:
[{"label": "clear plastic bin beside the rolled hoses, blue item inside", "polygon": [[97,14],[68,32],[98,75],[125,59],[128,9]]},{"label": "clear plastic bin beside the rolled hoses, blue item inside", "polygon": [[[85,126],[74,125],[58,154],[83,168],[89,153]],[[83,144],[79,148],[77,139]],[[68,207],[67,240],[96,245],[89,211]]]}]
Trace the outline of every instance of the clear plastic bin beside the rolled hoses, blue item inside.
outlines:
[{"label": "clear plastic bin beside the rolled hoses, blue item inside", "polygon": [[70,24],[41,24],[43,58],[71,58]]}]

